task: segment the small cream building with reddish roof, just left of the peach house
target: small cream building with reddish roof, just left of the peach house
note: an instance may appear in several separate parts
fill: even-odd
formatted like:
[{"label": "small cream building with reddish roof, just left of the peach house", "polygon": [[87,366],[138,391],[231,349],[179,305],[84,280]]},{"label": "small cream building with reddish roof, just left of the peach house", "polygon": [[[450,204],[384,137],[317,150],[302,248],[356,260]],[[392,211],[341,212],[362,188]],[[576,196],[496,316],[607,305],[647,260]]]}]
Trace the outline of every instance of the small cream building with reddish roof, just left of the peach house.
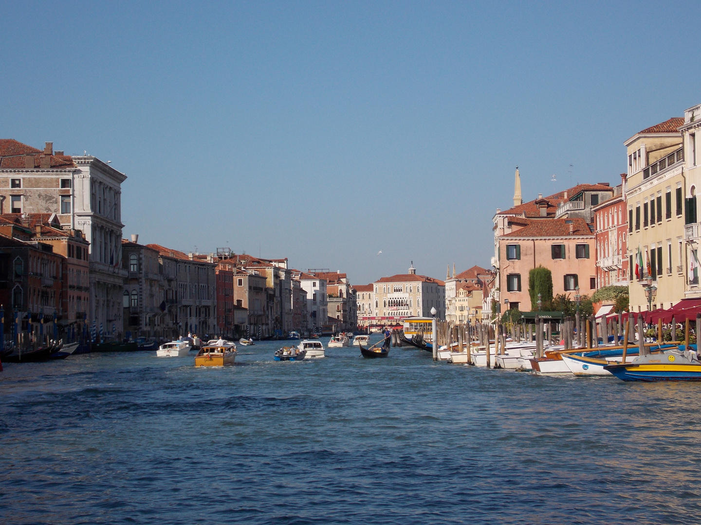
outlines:
[{"label": "small cream building with reddish roof, just left of the peach house", "polygon": [[[456,275],[455,265],[453,265],[453,276],[447,274],[445,280],[446,321],[464,323],[468,321],[468,318],[470,321],[477,318],[481,321],[484,295],[489,294],[489,285],[492,281],[494,281],[494,272],[491,270],[475,265]],[[458,293],[461,289],[463,290],[462,294]],[[476,290],[479,290],[479,293],[473,293]],[[477,304],[477,300],[479,300],[479,304]]]}]

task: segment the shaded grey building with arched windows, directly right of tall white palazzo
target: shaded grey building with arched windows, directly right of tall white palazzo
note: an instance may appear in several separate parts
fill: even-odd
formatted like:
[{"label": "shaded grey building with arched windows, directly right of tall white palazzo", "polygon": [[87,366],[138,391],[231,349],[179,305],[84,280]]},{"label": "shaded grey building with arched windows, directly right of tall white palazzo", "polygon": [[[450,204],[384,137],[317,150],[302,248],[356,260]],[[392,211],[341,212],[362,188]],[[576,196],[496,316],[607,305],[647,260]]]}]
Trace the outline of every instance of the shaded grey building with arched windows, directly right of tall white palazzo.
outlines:
[{"label": "shaded grey building with arched windows, directly right of tall white palazzo", "polygon": [[170,337],[165,279],[158,250],[139,244],[139,236],[122,239],[122,268],[127,272],[122,293],[125,337]]}]

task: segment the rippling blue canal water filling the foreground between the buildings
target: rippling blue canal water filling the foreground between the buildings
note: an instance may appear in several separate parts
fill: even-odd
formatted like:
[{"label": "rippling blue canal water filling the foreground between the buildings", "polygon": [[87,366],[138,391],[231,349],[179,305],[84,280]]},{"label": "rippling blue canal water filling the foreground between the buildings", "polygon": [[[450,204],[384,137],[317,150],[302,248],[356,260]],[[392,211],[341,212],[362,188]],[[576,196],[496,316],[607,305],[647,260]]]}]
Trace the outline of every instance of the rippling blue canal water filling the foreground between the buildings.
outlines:
[{"label": "rippling blue canal water filling the foreground between the buildings", "polygon": [[[376,338],[376,337],[375,337]],[[322,339],[326,342],[327,339]],[[0,521],[697,523],[699,384],[155,352],[0,373]]]}]

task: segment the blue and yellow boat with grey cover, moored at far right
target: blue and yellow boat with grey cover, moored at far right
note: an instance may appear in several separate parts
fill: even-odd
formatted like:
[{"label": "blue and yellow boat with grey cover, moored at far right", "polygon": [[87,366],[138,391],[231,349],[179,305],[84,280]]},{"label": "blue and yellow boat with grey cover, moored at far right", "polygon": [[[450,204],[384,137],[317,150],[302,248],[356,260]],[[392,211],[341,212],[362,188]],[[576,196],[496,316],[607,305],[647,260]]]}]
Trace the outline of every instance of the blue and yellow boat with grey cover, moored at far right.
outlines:
[{"label": "blue and yellow boat with grey cover, moored at far right", "polygon": [[701,363],[693,350],[649,353],[632,363],[607,365],[604,370],[623,381],[701,381]]}]

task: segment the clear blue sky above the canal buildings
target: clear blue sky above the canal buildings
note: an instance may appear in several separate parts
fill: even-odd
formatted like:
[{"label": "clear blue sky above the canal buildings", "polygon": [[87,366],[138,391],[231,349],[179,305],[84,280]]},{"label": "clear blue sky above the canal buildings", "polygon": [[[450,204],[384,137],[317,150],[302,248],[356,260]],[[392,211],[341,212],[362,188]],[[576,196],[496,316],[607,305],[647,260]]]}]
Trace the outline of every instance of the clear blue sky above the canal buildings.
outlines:
[{"label": "clear blue sky above the canal buildings", "polygon": [[0,137],[111,160],[124,237],[356,284],[489,267],[517,165],[620,183],[701,102],[698,1],[2,5]]}]

